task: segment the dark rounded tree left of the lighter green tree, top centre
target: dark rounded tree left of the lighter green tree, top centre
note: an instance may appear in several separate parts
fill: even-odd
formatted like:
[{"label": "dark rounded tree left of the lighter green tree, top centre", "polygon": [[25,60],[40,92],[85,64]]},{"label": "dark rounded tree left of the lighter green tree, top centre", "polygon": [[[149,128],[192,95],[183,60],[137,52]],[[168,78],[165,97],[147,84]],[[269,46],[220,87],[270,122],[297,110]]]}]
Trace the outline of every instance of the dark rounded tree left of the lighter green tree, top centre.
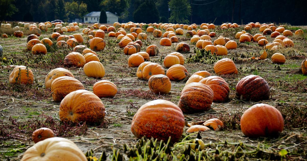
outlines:
[{"label": "dark rounded tree left of the lighter green tree, top centre", "polygon": [[[150,14],[144,14],[144,13],[150,13]],[[155,3],[153,0],[145,0],[137,10],[133,13],[133,19],[135,22],[144,22],[144,23],[154,23],[158,22],[159,17],[159,11],[156,8]]]}]

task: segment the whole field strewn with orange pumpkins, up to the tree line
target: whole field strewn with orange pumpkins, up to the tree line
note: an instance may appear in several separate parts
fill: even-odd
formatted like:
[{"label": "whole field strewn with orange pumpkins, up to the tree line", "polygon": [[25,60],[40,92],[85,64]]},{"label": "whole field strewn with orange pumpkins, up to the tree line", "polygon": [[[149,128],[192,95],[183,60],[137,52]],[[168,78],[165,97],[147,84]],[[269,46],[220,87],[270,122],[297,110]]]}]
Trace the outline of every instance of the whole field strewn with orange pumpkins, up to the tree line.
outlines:
[{"label": "whole field strewn with orange pumpkins, up to the tree line", "polygon": [[307,160],[306,30],[3,23],[0,160]]}]

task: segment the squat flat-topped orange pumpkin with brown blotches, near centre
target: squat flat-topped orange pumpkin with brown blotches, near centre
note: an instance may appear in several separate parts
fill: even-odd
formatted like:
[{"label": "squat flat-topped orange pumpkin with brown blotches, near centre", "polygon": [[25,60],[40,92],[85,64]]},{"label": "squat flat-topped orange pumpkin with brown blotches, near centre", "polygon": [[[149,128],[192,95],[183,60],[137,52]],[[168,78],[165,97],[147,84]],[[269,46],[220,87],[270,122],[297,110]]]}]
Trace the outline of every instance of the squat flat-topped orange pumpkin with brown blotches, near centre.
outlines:
[{"label": "squat flat-topped orange pumpkin with brown blotches, near centre", "polygon": [[153,75],[148,79],[148,86],[155,94],[168,94],[171,90],[169,77],[163,74]]}]

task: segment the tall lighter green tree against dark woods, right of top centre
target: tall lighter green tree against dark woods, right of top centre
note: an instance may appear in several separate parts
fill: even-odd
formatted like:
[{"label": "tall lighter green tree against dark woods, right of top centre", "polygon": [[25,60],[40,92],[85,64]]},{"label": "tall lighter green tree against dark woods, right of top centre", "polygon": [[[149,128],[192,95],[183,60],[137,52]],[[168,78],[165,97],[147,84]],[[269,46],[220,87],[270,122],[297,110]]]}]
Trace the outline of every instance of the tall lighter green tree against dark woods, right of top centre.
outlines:
[{"label": "tall lighter green tree against dark woods, right of top centre", "polygon": [[171,10],[169,22],[185,24],[190,22],[188,18],[191,15],[191,6],[188,0],[171,0],[169,8]]}]

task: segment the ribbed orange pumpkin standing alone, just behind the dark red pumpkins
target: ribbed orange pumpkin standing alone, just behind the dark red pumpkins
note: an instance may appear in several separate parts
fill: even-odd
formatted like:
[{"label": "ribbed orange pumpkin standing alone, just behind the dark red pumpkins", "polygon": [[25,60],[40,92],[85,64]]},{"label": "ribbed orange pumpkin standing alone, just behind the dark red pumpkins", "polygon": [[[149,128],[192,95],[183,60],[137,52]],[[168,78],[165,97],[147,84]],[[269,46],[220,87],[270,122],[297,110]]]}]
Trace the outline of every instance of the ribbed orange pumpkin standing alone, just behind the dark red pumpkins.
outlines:
[{"label": "ribbed orange pumpkin standing alone, just behind the dark red pumpkins", "polygon": [[235,63],[228,58],[220,59],[214,64],[213,68],[217,75],[238,74]]}]

